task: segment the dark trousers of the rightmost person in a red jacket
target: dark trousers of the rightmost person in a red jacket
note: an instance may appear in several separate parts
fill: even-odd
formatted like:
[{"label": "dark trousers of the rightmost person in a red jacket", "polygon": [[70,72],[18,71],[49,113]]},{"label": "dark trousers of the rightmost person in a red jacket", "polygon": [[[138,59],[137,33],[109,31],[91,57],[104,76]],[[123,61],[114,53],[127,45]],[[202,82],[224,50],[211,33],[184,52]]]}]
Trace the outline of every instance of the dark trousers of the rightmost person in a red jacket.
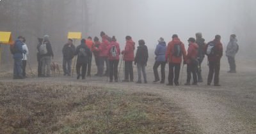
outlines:
[{"label": "dark trousers of the rightmost person in a red jacket", "polygon": [[214,75],[214,84],[219,84],[220,61],[209,61],[208,83],[211,84]]}]

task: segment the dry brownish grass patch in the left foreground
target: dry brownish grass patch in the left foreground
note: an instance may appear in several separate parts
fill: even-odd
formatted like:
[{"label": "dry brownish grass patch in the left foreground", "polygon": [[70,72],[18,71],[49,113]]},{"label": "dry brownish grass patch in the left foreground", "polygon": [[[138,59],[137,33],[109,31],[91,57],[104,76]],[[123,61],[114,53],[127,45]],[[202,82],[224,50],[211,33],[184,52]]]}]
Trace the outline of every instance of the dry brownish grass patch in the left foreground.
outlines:
[{"label": "dry brownish grass patch in the left foreground", "polygon": [[183,133],[161,96],[0,82],[0,133]]}]

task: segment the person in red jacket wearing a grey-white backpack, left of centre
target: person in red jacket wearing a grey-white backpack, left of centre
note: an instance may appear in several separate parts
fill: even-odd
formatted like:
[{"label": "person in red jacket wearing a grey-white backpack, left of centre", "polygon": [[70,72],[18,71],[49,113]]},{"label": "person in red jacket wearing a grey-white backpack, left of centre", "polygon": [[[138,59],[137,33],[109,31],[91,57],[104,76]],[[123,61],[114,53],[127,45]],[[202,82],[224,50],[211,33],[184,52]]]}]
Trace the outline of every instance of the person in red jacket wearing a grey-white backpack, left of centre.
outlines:
[{"label": "person in red jacket wearing a grey-white backpack, left of centre", "polygon": [[120,45],[116,41],[115,36],[113,36],[108,48],[109,79],[110,79],[109,82],[113,82],[113,75],[115,77],[115,82],[118,82],[119,56],[120,56]]}]

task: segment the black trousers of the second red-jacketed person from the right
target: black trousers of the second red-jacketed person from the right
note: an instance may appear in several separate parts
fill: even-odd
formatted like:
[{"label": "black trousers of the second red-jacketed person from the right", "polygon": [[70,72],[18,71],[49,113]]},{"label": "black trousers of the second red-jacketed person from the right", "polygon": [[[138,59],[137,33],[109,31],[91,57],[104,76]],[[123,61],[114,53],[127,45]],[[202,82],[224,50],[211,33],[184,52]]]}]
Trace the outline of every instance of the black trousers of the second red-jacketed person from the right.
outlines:
[{"label": "black trousers of the second red-jacketed person from the right", "polygon": [[[197,61],[195,61],[195,62],[197,62]],[[195,62],[189,63],[187,65],[187,83],[189,83],[189,84],[190,84],[190,80],[191,80],[191,73],[193,74],[193,84],[197,84],[196,70],[197,70],[198,64]]]}]

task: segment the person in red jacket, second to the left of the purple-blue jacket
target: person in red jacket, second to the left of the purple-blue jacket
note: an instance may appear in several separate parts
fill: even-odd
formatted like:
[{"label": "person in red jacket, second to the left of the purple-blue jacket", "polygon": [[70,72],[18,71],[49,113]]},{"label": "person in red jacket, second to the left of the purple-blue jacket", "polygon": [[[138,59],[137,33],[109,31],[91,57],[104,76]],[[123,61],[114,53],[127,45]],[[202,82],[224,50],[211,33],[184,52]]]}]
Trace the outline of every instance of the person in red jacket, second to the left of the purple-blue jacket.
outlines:
[{"label": "person in red jacket, second to the left of the purple-blue jacket", "polygon": [[132,62],[134,61],[134,49],[135,43],[132,41],[131,36],[126,36],[126,45],[125,50],[122,51],[122,55],[124,56],[125,61],[125,79],[123,82],[129,82],[129,75],[130,75],[130,82],[133,82],[133,66]]}]

